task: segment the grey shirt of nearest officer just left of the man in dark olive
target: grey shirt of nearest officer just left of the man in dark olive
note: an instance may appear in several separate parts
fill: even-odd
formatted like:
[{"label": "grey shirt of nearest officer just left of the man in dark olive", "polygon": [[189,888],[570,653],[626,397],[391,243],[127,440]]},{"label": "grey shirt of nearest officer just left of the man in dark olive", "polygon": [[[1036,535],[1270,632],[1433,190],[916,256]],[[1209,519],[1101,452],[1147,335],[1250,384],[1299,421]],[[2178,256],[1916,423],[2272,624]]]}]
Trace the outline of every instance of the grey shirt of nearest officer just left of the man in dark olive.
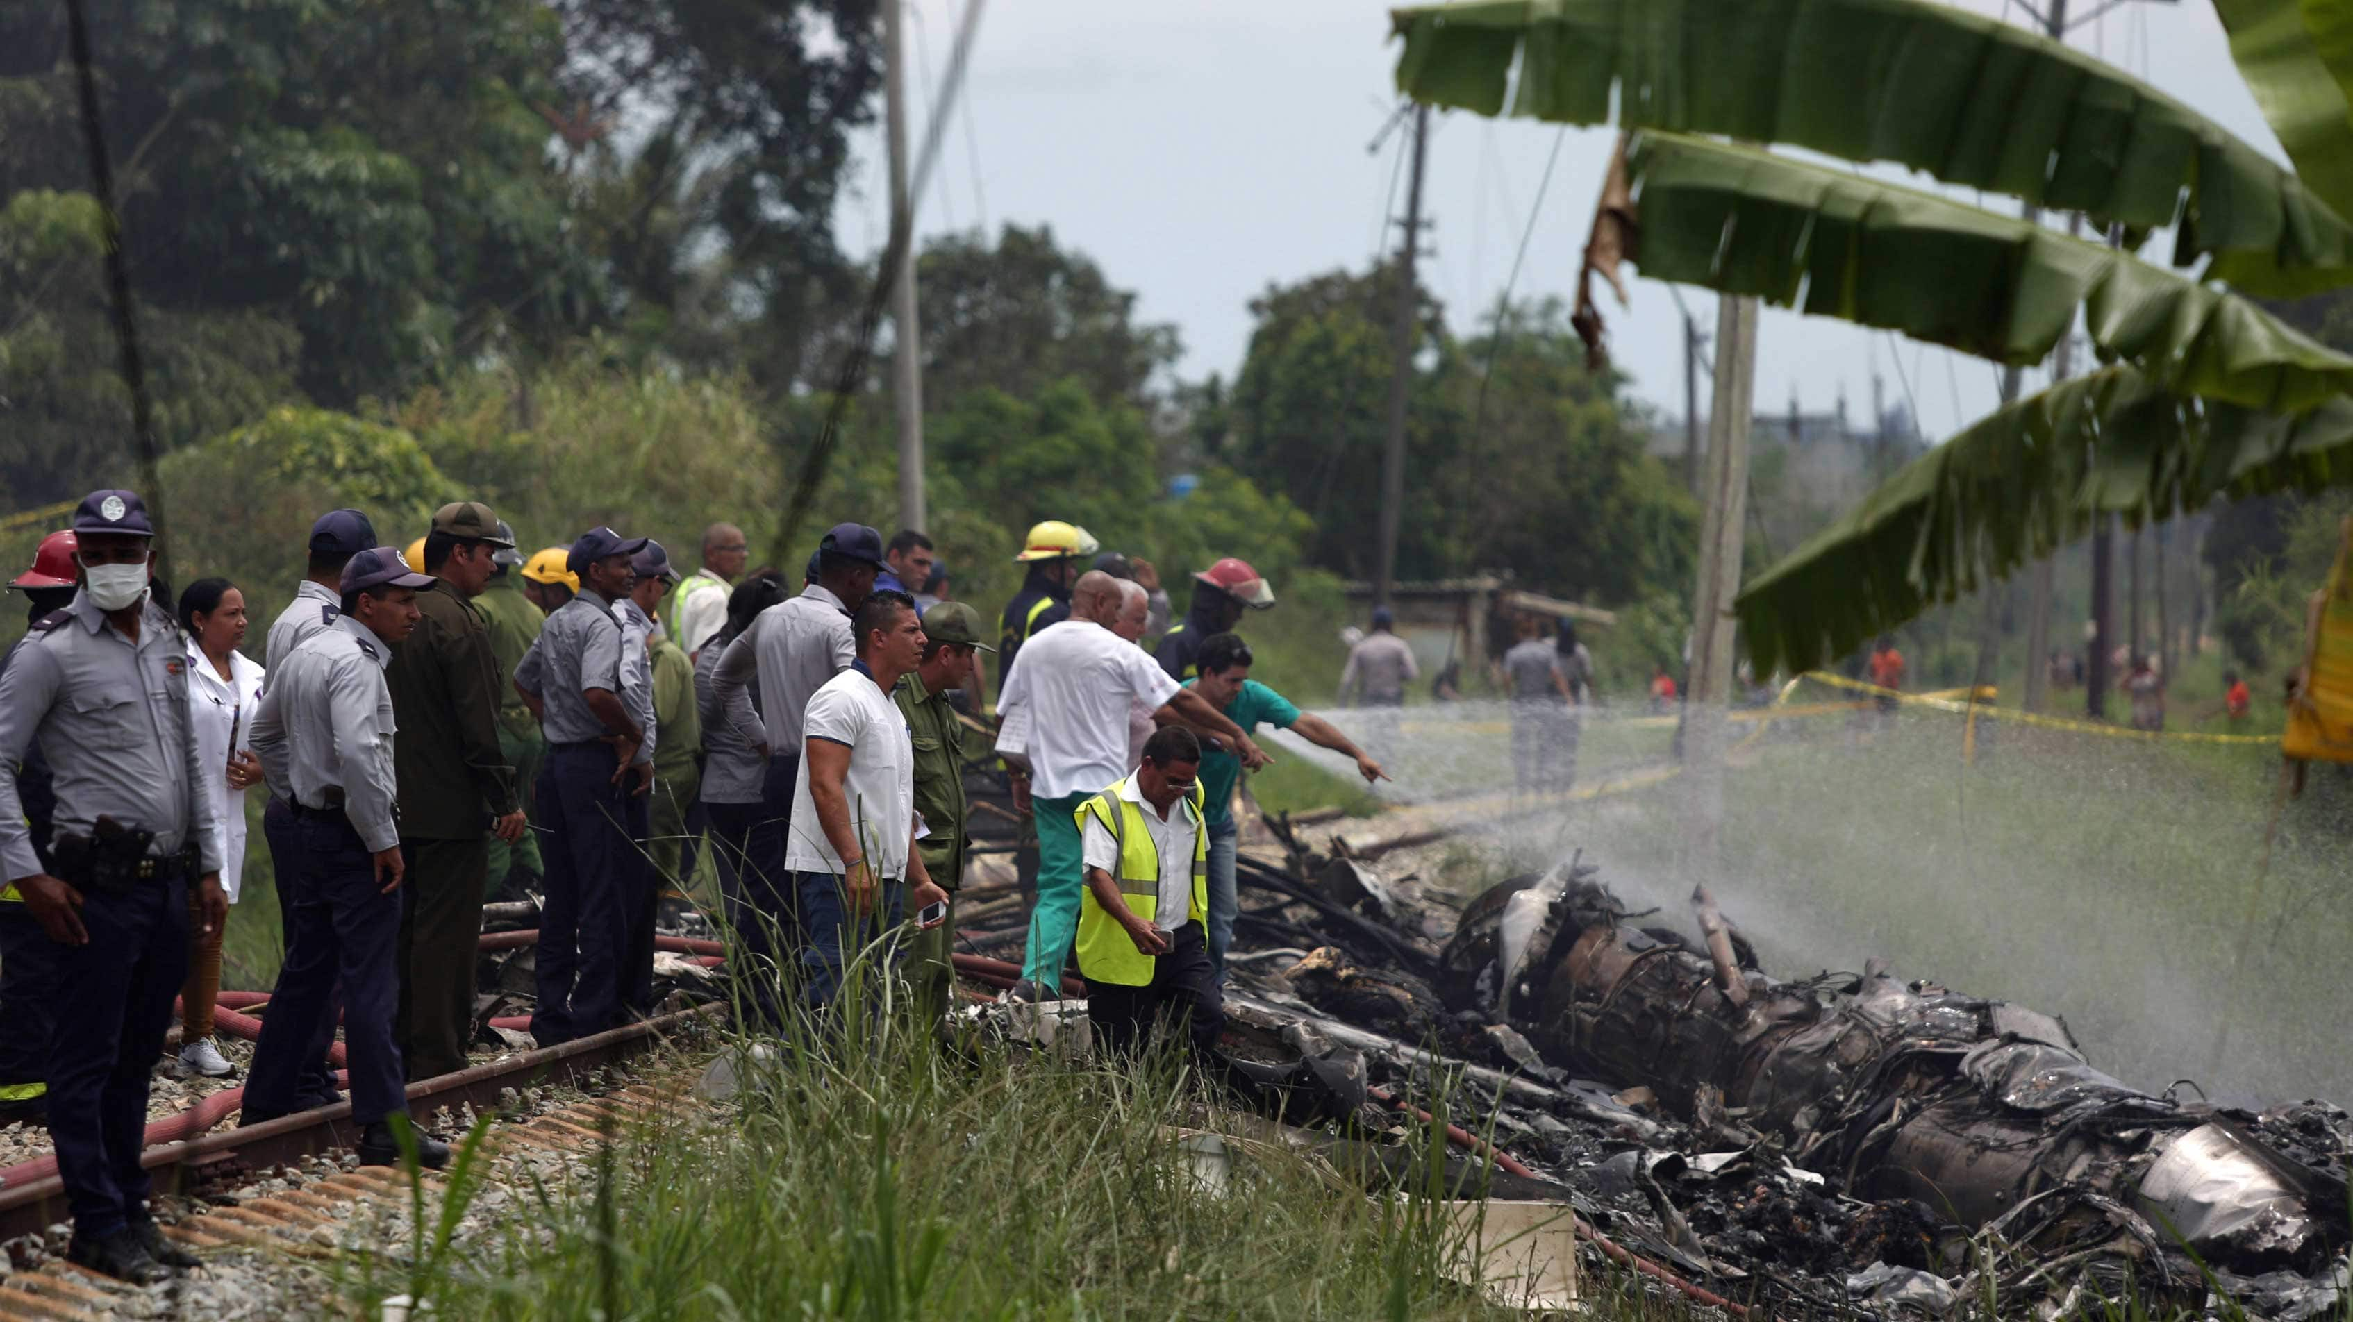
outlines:
[{"label": "grey shirt of nearest officer just left of the man in dark olive", "polygon": [[344,816],[372,854],[400,844],[391,661],[374,630],[336,616],[271,670],[252,736],[261,774],[289,786],[294,802],[322,809],[341,788]]}]

